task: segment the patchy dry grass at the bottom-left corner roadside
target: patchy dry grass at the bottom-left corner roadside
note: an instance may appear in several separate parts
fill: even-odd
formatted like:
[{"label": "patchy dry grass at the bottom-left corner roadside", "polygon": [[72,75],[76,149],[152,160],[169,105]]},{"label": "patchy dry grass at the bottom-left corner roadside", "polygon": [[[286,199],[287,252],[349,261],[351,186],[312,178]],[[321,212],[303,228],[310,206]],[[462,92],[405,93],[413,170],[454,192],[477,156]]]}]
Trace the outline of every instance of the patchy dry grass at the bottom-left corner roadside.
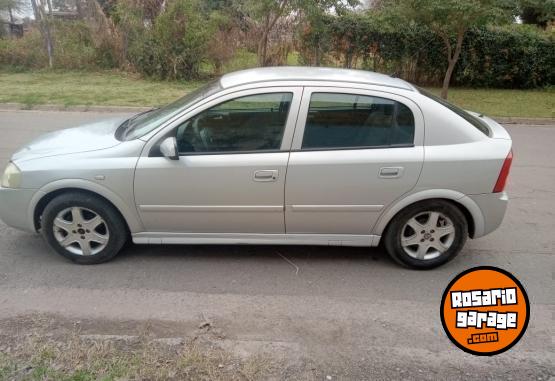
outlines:
[{"label": "patchy dry grass at the bottom-left corner roadside", "polygon": [[[238,358],[212,342],[32,330],[0,351],[0,380],[262,380],[271,361]],[[274,369],[275,371],[275,369]]]}]

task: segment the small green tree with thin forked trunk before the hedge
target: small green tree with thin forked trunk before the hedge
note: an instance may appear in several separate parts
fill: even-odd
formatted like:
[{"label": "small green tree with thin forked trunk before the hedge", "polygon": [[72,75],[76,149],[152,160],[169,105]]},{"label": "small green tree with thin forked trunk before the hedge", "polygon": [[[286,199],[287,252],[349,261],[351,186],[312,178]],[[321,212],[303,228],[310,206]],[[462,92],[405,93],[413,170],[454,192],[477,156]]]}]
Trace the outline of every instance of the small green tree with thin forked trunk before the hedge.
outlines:
[{"label": "small green tree with thin forked trunk before the hedge", "polygon": [[429,27],[445,46],[447,70],[441,89],[447,98],[449,83],[459,60],[466,32],[473,27],[509,22],[515,14],[512,0],[392,0],[384,6],[394,5],[397,22],[405,19]]}]

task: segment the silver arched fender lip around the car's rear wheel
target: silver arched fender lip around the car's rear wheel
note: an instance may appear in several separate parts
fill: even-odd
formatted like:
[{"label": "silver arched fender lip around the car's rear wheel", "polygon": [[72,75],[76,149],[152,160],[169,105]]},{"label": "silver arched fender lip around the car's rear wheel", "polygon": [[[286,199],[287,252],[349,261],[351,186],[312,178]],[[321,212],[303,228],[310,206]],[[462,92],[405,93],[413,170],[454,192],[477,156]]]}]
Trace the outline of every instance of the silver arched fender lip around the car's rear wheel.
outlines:
[{"label": "silver arched fender lip around the car's rear wheel", "polygon": [[372,234],[381,236],[389,221],[391,221],[391,219],[395,217],[397,213],[399,213],[407,206],[419,201],[438,198],[455,201],[466,208],[466,210],[468,210],[468,212],[472,216],[472,220],[474,223],[474,237],[477,238],[484,235],[485,219],[478,204],[476,204],[474,200],[472,200],[465,194],[451,189],[420,190],[405,195],[403,198],[396,200],[396,202],[391,204],[378,218],[378,221],[376,221],[374,227],[371,230]]}]

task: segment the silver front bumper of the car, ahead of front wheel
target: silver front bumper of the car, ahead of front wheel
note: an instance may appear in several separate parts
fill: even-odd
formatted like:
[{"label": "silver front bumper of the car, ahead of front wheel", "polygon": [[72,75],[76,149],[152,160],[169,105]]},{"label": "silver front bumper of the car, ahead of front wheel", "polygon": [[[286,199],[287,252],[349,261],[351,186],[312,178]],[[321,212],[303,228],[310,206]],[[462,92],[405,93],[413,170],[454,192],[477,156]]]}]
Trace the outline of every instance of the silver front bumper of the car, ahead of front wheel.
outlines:
[{"label": "silver front bumper of the car, ahead of front wheel", "polygon": [[0,219],[16,229],[35,233],[29,205],[36,189],[12,189],[0,187]]}]

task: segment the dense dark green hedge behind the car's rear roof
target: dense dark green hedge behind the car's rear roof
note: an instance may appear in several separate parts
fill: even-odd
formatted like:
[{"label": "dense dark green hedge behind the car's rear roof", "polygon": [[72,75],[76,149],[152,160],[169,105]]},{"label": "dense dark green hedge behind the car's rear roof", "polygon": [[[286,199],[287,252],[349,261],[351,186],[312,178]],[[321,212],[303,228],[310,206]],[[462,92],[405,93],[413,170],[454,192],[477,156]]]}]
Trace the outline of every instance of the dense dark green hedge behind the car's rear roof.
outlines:
[{"label": "dense dark green hedge behind the car's rear roof", "polygon": [[[440,85],[447,67],[445,46],[430,29],[386,27],[380,20],[359,14],[328,16],[318,27],[305,28],[299,50],[305,64],[387,72],[425,85]],[[552,33],[524,25],[472,29],[465,35],[451,83],[497,88],[553,86],[554,62]]]}]

